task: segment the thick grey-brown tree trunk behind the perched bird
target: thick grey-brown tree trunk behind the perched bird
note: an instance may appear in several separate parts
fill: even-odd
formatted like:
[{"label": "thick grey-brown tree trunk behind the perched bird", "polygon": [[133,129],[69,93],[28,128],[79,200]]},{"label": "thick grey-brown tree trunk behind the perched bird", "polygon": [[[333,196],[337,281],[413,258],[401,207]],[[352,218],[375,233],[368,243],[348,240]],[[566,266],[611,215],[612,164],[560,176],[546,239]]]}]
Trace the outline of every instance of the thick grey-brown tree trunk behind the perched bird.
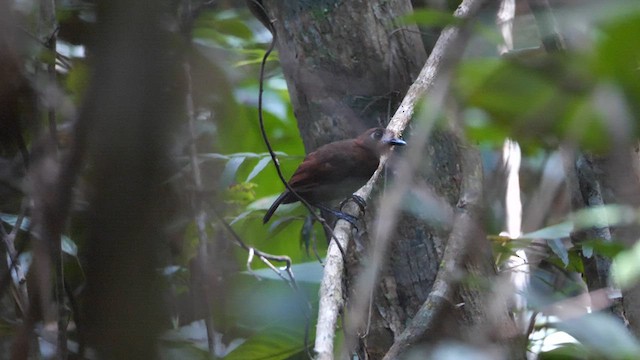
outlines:
[{"label": "thick grey-brown tree trunk behind the perched bird", "polygon": [[[412,10],[409,1],[267,1],[265,7],[275,20],[280,61],[307,151],[353,137],[367,127],[386,125],[426,59],[417,29],[396,25],[399,16]],[[357,350],[367,356],[362,358],[382,358],[432,290],[454,209],[461,201],[462,145],[453,132],[441,130],[421,149],[425,160],[415,171],[412,191],[445,204],[445,215],[440,221],[410,214],[400,217],[374,294],[367,336]],[[372,212],[375,209],[369,206],[369,224]],[[474,221],[478,225],[479,219]],[[473,237],[477,249],[460,253],[469,260],[466,270],[473,276],[495,275],[482,231]],[[355,254],[349,258],[356,259],[347,264],[350,276],[358,273],[360,260],[366,258],[361,248],[367,248],[369,239],[365,234],[358,240],[365,246],[350,249]],[[477,335],[470,334],[470,329],[487,319],[478,288],[465,285],[454,292],[451,306],[439,314],[441,328],[429,343],[469,339]],[[369,296],[347,293],[350,298]]]}]

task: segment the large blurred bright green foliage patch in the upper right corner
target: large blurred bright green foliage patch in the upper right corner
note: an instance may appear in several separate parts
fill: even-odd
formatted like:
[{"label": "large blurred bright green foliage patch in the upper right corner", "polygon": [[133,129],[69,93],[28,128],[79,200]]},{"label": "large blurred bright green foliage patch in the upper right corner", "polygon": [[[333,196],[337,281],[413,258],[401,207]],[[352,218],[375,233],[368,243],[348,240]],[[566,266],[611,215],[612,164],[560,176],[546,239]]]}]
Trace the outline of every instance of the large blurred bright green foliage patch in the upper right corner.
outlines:
[{"label": "large blurred bright green foliage patch in the upper right corner", "polygon": [[[585,48],[552,55],[516,51],[461,64],[455,89],[469,106],[465,124],[471,139],[498,146],[508,136],[529,154],[565,141],[604,152],[616,130],[609,118],[613,111],[625,113],[623,121],[638,135],[640,10],[614,2],[624,12],[595,21],[589,12],[604,6],[590,6],[596,8],[578,10],[595,24],[587,30],[591,45]],[[560,22],[570,18],[560,15]],[[607,101],[612,96],[617,102]]]}]

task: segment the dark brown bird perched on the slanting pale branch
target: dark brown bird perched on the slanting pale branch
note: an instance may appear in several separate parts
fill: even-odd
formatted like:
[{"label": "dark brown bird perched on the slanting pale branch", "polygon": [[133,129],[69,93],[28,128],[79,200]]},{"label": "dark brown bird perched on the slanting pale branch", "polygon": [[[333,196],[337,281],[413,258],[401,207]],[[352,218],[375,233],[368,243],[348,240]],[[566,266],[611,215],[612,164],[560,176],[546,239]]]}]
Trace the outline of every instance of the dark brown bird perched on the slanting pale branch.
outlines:
[{"label": "dark brown bird perched on the slanting pale branch", "polygon": [[[326,209],[328,202],[345,199],[366,184],[378,168],[380,157],[394,145],[406,144],[391,130],[372,128],[355,139],[323,145],[304,158],[289,180],[289,186],[309,204]],[[285,190],[263,221],[269,221],[280,204],[296,201],[298,198]]]}]

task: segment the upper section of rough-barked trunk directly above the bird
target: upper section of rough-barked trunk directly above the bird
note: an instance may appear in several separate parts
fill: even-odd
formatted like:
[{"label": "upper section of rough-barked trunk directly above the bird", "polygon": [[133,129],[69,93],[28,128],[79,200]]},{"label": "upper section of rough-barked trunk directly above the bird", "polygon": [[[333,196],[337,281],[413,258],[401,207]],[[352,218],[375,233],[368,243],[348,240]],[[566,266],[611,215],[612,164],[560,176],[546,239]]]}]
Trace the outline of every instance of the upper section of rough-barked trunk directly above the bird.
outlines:
[{"label": "upper section of rough-barked trunk directly above the bird", "polygon": [[385,125],[426,54],[408,1],[266,1],[307,152]]}]

